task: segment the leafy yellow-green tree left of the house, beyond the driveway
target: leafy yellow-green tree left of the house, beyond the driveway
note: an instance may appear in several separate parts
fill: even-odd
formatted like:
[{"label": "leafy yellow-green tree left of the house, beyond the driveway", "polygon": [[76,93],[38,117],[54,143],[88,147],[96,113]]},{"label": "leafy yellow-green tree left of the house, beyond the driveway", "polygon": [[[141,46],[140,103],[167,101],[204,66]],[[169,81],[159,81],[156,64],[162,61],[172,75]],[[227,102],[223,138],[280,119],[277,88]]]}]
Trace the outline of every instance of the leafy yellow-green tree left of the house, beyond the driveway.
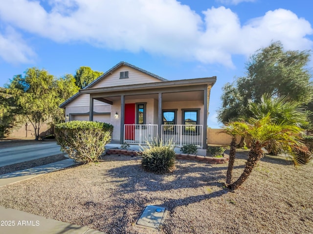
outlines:
[{"label": "leafy yellow-green tree left of the house, beyond the driveway", "polygon": [[30,121],[39,139],[40,127],[57,105],[55,78],[45,70],[29,68],[25,76],[14,76],[8,90],[14,98],[18,114]]}]

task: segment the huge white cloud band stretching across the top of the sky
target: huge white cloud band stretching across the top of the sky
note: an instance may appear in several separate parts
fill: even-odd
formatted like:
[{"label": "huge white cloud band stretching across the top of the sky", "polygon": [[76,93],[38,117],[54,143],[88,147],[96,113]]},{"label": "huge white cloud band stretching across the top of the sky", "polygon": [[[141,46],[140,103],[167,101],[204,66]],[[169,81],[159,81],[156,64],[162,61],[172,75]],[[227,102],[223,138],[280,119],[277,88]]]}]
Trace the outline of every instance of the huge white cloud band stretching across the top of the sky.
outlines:
[{"label": "huge white cloud band stretching across the top of the sky", "polygon": [[177,0],[46,2],[49,7],[44,8],[39,1],[3,1],[0,19],[59,43],[80,41],[113,50],[144,50],[227,67],[234,66],[232,55],[248,56],[271,41],[281,40],[287,49],[311,49],[313,44],[306,38],[313,33],[310,23],[284,9],[268,11],[241,25],[239,17],[225,7],[203,11],[202,19]]}]

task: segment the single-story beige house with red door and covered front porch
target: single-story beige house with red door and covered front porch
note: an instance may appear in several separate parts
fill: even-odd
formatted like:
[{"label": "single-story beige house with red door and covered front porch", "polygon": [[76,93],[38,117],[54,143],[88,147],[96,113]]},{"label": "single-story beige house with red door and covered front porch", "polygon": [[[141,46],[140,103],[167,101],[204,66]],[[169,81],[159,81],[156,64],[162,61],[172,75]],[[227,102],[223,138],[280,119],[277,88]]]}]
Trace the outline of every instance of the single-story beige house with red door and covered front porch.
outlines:
[{"label": "single-story beige house with red door and covered front porch", "polygon": [[145,144],[155,137],[206,148],[210,89],[216,77],[166,80],[120,62],[60,105],[66,121],[111,123],[112,140]]}]

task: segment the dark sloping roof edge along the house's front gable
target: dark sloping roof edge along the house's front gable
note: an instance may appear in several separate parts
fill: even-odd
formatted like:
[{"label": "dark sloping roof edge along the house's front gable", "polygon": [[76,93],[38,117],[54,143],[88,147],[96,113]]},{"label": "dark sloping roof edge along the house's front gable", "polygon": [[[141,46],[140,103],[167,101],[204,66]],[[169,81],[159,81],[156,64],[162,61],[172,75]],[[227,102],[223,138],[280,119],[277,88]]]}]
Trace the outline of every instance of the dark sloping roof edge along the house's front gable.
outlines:
[{"label": "dark sloping roof edge along the house's front gable", "polygon": [[[93,80],[89,85],[86,85],[86,86],[85,86],[84,88],[82,88],[82,89],[88,89],[88,88],[90,88],[92,85],[94,85],[94,84],[96,84],[97,82],[99,82],[102,78],[105,78],[107,75],[110,75],[110,74],[112,73],[112,71],[114,71],[115,69],[117,69],[117,68],[119,68],[120,66],[123,66],[123,65],[129,66],[129,67],[131,67],[131,68],[134,68],[134,69],[136,69],[136,70],[138,70],[138,71],[140,71],[140,72],[143,72],[143,73],[145,73],[145,74],[147,74],[147,75],[149,75],[149,76],[152,76],[152,77],[154,77],[154,78],[157,78],[157,79],[159,79],[159,80],[161,80],[161,81],[168,81],[168,80],[165,79],[165,78],[159,77],[159,76],[157,76],[156,74],[153,74],[153,73],[151,73],[151,72],[148,72],[148,71],[146,71],[146,70],[144,70],[144,69],[142,69],[142,68],[140,68],[140,67],[136,67],[136,66],[134,66],[133,64],[130,64],[130,63],[128,63],[128,62],[121,61],[121,62],[117,63],[115,66],[113,66],[110,70],[108,70],[107,72],[103,73],[100,77],[98,77],[98,78],[96,78],[95,80]],[[63,102],[59,107],[60,107],[60,108],[64,108],[69,102],[71,102],[73,99],[75,99],[75,98],[76,98],[77,96],[79,96],[79,95],[80,95],[79,92],[76,93],[76,94],[74,94],[72,97],[68,98],[65,102]]]}]

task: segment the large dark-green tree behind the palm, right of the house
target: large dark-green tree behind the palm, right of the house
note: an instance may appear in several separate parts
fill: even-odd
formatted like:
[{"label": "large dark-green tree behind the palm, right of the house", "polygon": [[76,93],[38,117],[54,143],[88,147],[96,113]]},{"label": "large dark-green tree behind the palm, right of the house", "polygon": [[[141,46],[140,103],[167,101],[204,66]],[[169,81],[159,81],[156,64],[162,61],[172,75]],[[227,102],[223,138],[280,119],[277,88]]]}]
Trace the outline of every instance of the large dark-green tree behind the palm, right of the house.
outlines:
[{"label": "large dark-green tree behind the palm, right of the house", "polygon": [[280,42],[261,48],[246,63],[246,77],[224,85],[219,121],[249,116],[248,100],[259,102],[262,95],[287,96],[298,106],[313,100],[312,74],[308,69],[309,51],[284,51]]}]

